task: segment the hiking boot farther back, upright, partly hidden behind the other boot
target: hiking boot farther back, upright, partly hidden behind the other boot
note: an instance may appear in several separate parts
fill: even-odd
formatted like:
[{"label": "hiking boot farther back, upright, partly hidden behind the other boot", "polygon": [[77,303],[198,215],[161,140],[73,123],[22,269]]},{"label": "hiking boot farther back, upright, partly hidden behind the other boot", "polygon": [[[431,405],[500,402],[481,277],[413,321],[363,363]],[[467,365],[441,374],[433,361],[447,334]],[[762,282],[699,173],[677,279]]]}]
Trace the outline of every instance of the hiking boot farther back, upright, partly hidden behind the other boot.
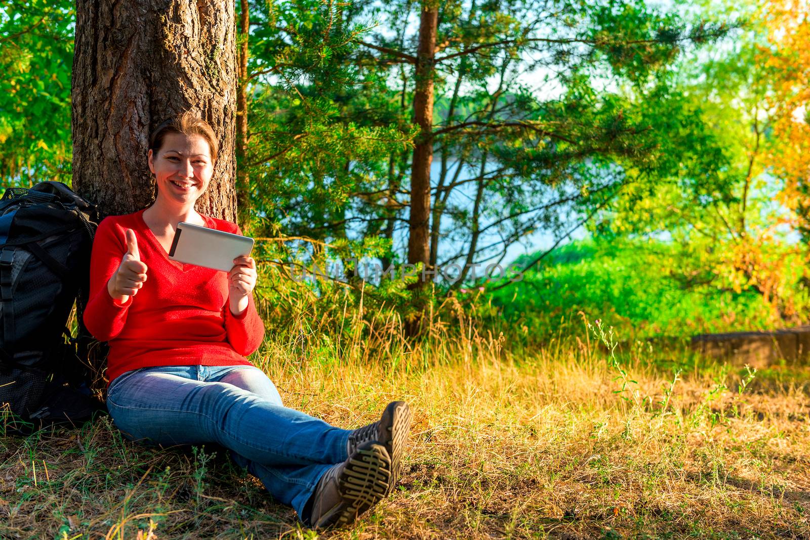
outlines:
[{"label": "hiking boot farther back, upright, partly hidden behind the other boot", "polygon": [[411,409],[404,401],[388,403],[382,418],[349,434],[348,454],[365,441],[377,441],[386,447],[391,458],[391,479],[386,496],[399,482],[399,464],[402,460],[408,430],[411,428]]}]

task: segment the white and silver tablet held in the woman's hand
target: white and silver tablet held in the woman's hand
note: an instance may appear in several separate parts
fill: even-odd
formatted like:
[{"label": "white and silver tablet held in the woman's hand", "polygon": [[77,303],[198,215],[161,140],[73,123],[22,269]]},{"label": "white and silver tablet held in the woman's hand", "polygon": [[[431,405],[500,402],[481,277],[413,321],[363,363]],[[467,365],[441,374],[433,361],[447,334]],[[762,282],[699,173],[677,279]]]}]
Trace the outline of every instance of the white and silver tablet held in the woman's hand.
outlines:
[{"label": "white and silver tablet held in the woman's hand", "polygon": [[177,223],[168,258],[178,263],[229,272],[233,268],[233,259],[250,255],[253,246],[253,238],[181,221]]}]

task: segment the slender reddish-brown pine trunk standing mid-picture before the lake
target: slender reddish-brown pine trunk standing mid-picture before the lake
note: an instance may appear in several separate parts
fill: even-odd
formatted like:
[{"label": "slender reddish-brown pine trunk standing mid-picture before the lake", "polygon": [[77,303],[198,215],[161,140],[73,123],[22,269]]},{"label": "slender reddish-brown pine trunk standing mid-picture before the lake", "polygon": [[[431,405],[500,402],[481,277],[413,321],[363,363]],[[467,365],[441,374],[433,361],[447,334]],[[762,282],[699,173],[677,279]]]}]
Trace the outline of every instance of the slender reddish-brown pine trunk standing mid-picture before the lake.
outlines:
[{"label": "slender reddish-brown pine trunk standing mid-picture before the lake", "polygon": [[[416,57],[413,116],[420,127],[411,162],[411,215],[407,262],[430,264],[430,166],[433,163],[433,58],[436,56],[438,6],[423,2]],[[416,288],[425,281],[416,281]]]}]

